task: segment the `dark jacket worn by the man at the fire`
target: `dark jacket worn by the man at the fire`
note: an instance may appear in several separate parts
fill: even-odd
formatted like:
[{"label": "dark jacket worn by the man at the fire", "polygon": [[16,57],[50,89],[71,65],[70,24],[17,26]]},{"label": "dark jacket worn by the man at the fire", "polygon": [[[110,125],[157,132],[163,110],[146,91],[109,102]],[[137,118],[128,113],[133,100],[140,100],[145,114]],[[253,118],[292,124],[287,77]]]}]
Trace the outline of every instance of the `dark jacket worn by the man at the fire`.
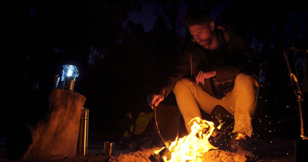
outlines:
[{"label": "dark jacket worn by the man at the fire", "polygon": [[[188,77],[195,81],[195,76],[198,75],[200,70],[204,72],[216,71],[215,77],[205,79],[205,84],[199,83],[199,86],[218,99],[221,99],[224,95],[215,93],[216,90],[213,89],[213,83],[211,83],[213,79],[230,80],[233,81],[234,85],[234,80],[240,72],[258,76],[260,63],[247,42],[226,25],[216,26],[214,31],[220,44],[216,50],[204,49],[193,39],[188,39],[184,43],[184,54],[173,69],[172,75],[161,86],[167,89],[165,97],[169,95],[176,82],[181,78]],[[233,85],[227,91],[231,91]]]}]

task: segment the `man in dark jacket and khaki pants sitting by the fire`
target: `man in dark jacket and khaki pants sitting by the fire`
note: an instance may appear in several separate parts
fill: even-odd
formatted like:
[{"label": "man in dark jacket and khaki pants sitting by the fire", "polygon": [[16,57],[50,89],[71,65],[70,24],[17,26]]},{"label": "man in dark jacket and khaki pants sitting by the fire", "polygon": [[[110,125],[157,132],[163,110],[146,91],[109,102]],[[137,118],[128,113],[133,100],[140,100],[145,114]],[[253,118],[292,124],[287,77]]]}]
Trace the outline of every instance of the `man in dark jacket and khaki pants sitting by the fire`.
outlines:
[{"label": "man in dark jacket and khaki pants sitting by the fire", "polygon": [[[149,106],[157,106],[173,90],[190,133],[190,120],[201,118],[200,109],[210,114],[217,105],[234,115],[231,151],[250,153],[246,137],[251,137],[251,120],[257,106],[260,64],[244,39],[228,26],[215,26],[204,10],[184,16],[191,39],[174,73],[152,95]],[[188,77],[187,77],[188,76]]]}]

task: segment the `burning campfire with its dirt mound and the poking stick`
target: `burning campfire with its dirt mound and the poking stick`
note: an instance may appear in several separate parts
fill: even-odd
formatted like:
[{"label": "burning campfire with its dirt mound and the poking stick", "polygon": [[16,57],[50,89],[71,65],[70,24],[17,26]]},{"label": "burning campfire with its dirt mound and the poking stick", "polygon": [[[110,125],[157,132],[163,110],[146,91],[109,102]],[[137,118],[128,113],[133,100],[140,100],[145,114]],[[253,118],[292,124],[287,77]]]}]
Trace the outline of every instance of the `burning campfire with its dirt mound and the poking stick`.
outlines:
[{"label": "burning campfire with its dirt mound and the poking stick", "polygon": [[[163,162],[163,161],[258,161],[257,157],[246,154],[232,153],[217,148],[224,148],[223,143],[216,142],[222,134],[218,132],[222,123],[218,127],[213,122],[193,118],[188,124],[191,132],[182,138],[176,137],[173,142],[164,142],[160,135],[160,130],[156,120],[156,106],[154,106],[154,117],[156,128],[164,147],[142,148],[140,151],[121,153],[119,156],[111,156],[109,162],[136,161],[136,162]],[[219,136],[216,136],[220,134]],[[157,138],[156,138],[157,139]],[[226,139],[224,140],[226,141]],[[215,144],[213,143],[215,142]],[[213,144],[213,145],[212,145]],[[228,145],[227,145],[228,146]]]}]

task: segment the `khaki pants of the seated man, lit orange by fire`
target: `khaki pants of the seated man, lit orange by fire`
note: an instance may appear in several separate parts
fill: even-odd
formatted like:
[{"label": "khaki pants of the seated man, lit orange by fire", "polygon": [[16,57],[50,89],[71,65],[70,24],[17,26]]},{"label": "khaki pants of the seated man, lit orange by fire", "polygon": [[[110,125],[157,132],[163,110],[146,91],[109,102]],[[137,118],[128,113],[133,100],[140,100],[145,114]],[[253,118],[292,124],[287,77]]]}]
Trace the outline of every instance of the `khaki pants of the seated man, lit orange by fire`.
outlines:
[{"label": "khaki pants of the seated man, lit orange by fire", "polygon": [[229,113],[234,114],[233,133],[245,133],[251,137],[253,132],[251,120],[257,106],[259,93],[259,83],[255,75],[239,73],[236,76],[233,90],[222,99],[214,98],[197,83],[187,78],[177,81],[173,92],[188,133],[190,133],[192,125],[192,123],[190,125],[188,123],[192,118],[201,118],[200,110],[211,114],[214,107],[220,105]]}]

